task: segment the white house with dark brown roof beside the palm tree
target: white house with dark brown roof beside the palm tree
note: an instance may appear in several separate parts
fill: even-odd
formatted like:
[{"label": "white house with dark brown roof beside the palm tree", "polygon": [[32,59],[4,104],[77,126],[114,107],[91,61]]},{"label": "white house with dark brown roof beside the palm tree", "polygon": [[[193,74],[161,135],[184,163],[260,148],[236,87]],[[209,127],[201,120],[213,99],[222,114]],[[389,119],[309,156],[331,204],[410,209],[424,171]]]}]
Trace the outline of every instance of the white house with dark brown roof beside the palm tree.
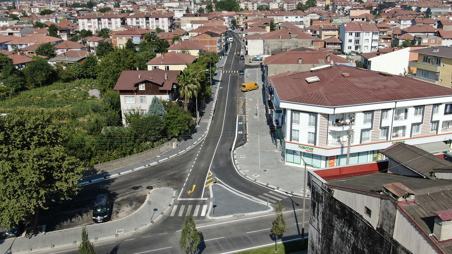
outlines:
[{"label": "white house with dark brown roof beside the palm tree", "polygon": [[123,70],[113,90],[119,91],[122,123],[125,114],[139,111],[146,115],[154,96],[174,101],[177,97],[177,76],[180,70]]}]

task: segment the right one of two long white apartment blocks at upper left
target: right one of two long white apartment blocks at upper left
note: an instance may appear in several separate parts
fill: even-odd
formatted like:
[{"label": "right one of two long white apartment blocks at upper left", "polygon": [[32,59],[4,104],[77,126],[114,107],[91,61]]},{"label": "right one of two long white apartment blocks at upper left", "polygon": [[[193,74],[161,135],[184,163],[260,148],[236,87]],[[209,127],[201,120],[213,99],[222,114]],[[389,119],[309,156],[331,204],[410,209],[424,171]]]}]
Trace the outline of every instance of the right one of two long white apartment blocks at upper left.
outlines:
[{"label": "right one of two long white apartment blocks at upper left", "polygon": [[143,29],[161,28],[170,32],[174,27],[174,16],[167,13],[137,13],[127,16],[127,25],[137,26]]}]

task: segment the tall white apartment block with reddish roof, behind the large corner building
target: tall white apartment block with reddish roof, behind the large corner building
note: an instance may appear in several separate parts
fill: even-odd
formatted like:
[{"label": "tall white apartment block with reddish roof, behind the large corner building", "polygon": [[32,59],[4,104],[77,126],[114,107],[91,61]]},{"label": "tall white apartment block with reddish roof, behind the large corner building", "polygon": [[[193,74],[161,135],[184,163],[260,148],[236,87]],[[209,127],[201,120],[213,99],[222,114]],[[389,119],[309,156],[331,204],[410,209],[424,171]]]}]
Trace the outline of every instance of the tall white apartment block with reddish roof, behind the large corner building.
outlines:
[{"label": "tall white apartment block with reddish roof, behind the large corner building", "polygon": [[350,22],[342,23],[339,29],[339,40],[344,53],[369,53],[378,50],[380,32],[375,23]]}]

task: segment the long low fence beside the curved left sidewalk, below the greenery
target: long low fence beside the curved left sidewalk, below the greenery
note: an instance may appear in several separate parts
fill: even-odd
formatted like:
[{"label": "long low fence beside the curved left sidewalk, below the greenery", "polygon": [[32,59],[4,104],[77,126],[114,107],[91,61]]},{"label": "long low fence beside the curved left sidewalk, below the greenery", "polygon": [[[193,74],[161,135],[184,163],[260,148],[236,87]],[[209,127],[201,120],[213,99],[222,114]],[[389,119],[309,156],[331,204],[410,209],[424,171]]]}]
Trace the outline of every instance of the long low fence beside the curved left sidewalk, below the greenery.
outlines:
[{"label": "long low fence beside the curved left sidewalk, below the greenery", "polygon": [[155,157],[160,155],[170,149],[176,148],[179,143],[181,143],[182,139],[171,139],[170,141],[161,144],[156,148],[152,148],[146,150],[144,152],[140,152],[131,156],[123,157],[114,161],[99,163],[94,166],[88,166],[85,168],[84,176],[88,175],[96,175],[102,172],[107,172],[113,169],[117,169],[123,166],[128,166],[137,162],[142,162],[146,159]]}]

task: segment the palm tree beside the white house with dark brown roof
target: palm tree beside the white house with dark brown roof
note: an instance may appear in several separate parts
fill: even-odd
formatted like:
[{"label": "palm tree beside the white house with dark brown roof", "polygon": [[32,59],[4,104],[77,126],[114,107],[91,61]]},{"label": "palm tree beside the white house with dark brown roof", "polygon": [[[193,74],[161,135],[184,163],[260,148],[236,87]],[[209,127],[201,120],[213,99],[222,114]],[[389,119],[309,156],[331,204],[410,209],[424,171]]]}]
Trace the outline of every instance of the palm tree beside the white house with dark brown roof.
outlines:
[{"label": "palm tree beside the white house with dark brown roof", "polygon": [[200,84],[196,79],[196,72],[193,69],[184,69],[182,73],[177,76],[178,92],[180,97],[184,100],[184,108],[188,109],[188,100],[193,96],[198,96]]}]

